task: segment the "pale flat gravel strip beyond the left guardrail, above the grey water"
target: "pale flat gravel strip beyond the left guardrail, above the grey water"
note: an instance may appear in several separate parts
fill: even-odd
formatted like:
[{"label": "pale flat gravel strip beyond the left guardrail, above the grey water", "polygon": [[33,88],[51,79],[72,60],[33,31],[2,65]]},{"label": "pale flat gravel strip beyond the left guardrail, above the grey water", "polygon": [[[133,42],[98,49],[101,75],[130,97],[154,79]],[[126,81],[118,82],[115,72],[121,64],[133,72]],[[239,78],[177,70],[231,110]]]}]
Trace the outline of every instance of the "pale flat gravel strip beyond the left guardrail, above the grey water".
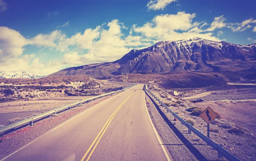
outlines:
[{"label": "pale flat gravel strip beyond the left guardrail, above the grey water", "polygon": [[0,113],[17,113],[31,111],[46,111],[61,107],[91,96],[67,96],[52,99],[39,99],[32,101],[15,101],[0,103]]}]

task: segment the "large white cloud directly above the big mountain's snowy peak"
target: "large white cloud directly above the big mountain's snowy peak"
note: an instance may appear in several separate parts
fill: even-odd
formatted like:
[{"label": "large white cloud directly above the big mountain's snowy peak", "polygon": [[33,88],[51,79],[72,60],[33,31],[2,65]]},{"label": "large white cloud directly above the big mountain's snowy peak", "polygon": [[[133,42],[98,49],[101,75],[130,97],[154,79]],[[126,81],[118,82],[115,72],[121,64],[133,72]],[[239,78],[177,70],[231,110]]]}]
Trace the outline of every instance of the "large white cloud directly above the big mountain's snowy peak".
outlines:
[{"label": "large white cloud directly above the big mountain's snowy peak", "polygon": [[159,15],[141,27],[134,25],[134,31],[147,38],[160,41],[175,41],[193,37],[219,41],[217,37],[212,36],[212,33],[203,33],[201,28],[207,23],[194,21],[195,16],[196,14],[185,12]]}]

